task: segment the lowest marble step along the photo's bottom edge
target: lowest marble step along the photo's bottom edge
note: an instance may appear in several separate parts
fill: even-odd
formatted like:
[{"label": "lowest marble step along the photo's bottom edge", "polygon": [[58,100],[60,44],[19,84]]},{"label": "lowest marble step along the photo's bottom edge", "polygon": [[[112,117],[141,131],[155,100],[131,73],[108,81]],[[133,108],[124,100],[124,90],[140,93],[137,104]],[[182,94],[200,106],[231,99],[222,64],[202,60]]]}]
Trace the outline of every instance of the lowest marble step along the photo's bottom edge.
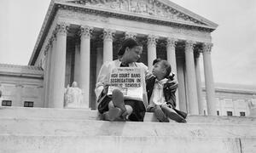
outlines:
[{"label": "lowest marble step along the photo's bottom edge", "polygon": [[255,153],[256,139],[169,136],[5,136],[3,153]]}]

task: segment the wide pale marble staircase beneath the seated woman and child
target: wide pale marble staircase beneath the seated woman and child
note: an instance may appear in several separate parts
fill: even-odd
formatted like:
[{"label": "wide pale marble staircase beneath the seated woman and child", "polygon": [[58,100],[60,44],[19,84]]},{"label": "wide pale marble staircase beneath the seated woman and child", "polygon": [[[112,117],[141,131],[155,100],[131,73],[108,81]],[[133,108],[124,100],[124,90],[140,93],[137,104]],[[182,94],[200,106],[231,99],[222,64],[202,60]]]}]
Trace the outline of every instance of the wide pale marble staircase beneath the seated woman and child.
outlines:
[{"label": "wide pale marble staircase beneath the seated woman and child", "polygon": [[97,111],[0,107],[0,153],[255,153],[256,118],[188,116],[187,123],[104,122]]}]

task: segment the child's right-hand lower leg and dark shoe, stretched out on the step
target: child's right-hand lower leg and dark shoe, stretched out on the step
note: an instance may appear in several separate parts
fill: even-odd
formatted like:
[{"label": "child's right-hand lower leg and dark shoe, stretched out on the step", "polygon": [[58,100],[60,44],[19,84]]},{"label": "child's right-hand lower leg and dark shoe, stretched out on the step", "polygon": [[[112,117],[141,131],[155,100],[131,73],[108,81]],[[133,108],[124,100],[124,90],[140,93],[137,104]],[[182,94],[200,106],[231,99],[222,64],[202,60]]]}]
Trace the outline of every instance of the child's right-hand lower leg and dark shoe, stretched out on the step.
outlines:
[{"label": "child's right-hand lower leg and dark shoe, stretched out on the step", "polygon": [[171,118],[172,120],[176,122],[186,122],[186,120],[177,114],[176,111],[174,111],[172,108],[168,107],[167,105],[161,105],[161,110],[164,111],[166,116]]}]

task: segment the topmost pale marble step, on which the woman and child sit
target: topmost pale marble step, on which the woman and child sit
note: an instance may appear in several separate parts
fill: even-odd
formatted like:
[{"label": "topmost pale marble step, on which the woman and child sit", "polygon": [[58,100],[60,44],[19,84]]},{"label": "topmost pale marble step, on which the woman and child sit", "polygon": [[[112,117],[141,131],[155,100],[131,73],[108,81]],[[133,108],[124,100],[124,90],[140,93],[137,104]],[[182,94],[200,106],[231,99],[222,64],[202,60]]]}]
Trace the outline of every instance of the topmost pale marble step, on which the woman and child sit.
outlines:
[{"label": "topmost pale marble step, on which the woman and child sit", "polygon": [[[0,106],[1,118],[30,118],[30,119],[73,119],[73,120],[100,120],[96,110],[90,109],[53,109],[53,108],[26,108]],[[171,121],[171,120],[170,120]],[[158,122],[153,113],[146,113],[144,122]],[[172,121],[171,121],[172,122]],[[191,116],[187,122],[199,124],[253,124],[256,125],[255,117],[239,116]]]}]

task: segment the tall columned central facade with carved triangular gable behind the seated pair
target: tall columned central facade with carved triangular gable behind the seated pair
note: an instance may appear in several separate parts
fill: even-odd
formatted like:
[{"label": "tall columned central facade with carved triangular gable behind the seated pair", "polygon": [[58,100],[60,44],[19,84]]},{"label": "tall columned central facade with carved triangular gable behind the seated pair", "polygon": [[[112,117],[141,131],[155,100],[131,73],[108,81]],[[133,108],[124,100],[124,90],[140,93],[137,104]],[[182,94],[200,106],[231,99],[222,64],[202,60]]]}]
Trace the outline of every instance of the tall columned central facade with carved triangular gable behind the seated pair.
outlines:
[{"label": "tall columned central facade with carved triangular gable behind the seated pair", "polygon": [[143,45],[141,62],[149,70],[157,57],[172,64],[179,82],[178,107],[195,115],[203,114],[198,62],[202,57],[207,111],[216,115],[211,63],[211,32],[216,27],[167,0],[54,0],[29,65],[44,68],[45,107],[63,108],[64,87],[76,81],[84,103],[95,108],[94,88],[102,63],[116,59],[120,42],[134,37]]}]

